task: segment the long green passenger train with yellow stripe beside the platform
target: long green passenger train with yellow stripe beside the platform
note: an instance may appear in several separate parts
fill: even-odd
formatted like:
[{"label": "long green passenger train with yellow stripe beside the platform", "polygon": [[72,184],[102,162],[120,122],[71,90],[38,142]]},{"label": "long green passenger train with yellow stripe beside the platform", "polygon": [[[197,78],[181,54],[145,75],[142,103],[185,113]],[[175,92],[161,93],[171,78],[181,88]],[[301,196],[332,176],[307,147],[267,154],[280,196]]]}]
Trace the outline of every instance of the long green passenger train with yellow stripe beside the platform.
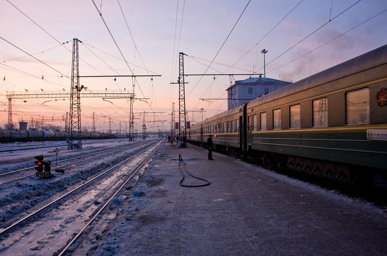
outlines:
[{"label": "long green passenger train with yellow stripe beside the platform", "polygon": [[217,150],[268,168],[387,186],[387,45],[199,122],[187,139],[210,134]]}]

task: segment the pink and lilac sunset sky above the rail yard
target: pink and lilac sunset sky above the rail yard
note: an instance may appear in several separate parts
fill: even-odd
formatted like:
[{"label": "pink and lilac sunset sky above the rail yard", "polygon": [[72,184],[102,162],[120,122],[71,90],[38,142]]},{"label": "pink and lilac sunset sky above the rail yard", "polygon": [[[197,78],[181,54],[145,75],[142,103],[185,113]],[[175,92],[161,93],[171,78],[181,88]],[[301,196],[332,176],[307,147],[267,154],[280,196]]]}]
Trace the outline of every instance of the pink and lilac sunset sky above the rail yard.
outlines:
[{"label": "pink and lilac sunset sky above the rail yard", "polygon": [[[178,53],[185,74],[252,74],[296,82],[387,43],[384,0],[0,0],[0,126],[10,92],[69,92],[73,38],[80,76],[161,75],[135,82],[134,112],[147,129],[170,130],[178,120]],[[101,15],[100,15],[101,14]],[[103,19],[102,19],[102,18]],[[239,20],[238,20],[239,19]],[[105,25],[106,23],[106,25]],[[124,59],[127,61],[125,63]],[[43,79],[42,79],[43,77]],[[232,77],[244,80],[248,76]],[[229,76],[185,77],[187,120],[227,110]],[[132,78],[80,78],[89,91],[132,90]],[[201,98],[219,98],[203,101]],[[26,101],[26,102],[24,102]],[[15,99],[13,122],[60,117],[70,99]],[[82,127],[128,129],[126,99],[81,98]],[[143,115],[136,114],[141,130]],[[155,121],[155,122],[151,122]],[[63,126],[63,122],[54,123]]]}]

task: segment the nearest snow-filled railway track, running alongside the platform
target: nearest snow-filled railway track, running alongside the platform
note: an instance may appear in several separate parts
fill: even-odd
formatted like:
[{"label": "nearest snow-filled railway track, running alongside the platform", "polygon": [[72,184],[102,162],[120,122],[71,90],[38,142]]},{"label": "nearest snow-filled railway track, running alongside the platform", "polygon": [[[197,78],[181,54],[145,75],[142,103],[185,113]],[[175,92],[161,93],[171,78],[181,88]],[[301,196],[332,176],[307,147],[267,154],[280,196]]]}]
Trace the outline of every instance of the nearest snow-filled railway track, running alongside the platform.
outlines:
[{"label": "nearest snow-filled railway track, running alongside the platform", "polygon": [[45,202],[42,207],[10,223],[0,231],[6,245],[0,253],[24,251],[29,254],[41,250],[62,255],[143,168],[160,143],[105,168],[83,184],[69,188],[66,193],[63,191],[62,196],[57,195],[55,200]]}]

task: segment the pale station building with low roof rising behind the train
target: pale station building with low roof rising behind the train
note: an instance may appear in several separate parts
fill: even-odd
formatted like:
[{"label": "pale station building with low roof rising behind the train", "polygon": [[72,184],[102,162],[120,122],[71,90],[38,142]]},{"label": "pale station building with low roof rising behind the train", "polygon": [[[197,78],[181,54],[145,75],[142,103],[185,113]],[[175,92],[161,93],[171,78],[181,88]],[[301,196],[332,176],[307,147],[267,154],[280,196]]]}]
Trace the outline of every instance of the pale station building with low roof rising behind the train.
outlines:
[{"label": "pale station building with low roof rising behind the train", "polygon": [[226,89],[227,110],[290,84],[292,83],[262,76],[235,81],[235,84]]}]

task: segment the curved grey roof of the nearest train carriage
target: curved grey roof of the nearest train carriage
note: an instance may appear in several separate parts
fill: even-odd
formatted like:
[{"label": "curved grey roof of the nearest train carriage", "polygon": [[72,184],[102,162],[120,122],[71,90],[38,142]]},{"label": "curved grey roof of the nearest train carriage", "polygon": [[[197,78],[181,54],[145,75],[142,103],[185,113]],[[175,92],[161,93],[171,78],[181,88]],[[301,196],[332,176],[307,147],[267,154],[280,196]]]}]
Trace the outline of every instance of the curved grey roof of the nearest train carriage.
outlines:
[{"label": "curved grey roof of the nearest train carriage", "polygon": [[253,99],[247,104],[248,107],[250,107],[251,105],[271,102],[367,69],[378,67],[385,63],[387,63],[387,44],[342,62],[325,71],[321,71],[315,75],[302,79],[282,89],[278,89],[272,93]]}]

